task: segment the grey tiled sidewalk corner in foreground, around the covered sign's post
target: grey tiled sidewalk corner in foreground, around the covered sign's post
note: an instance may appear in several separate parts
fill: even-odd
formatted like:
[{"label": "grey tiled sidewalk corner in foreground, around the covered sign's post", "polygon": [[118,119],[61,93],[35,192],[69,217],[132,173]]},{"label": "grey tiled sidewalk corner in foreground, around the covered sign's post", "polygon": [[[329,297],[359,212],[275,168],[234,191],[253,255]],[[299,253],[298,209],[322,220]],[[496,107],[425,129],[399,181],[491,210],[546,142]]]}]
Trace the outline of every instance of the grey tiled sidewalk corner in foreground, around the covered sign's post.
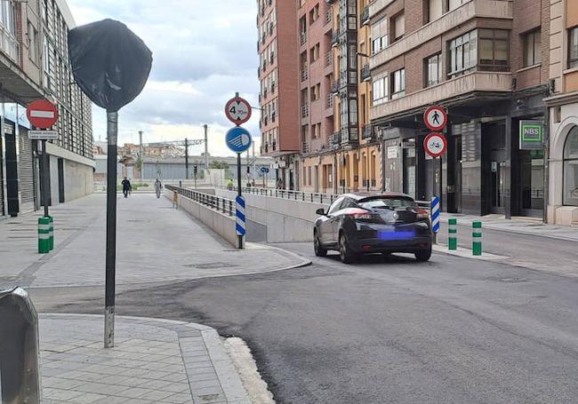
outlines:
[{"label": "grey tiled sidewalk corner in foreground, around the covered sign's post", "polygon": [[102,347],[96,315],[41,314],[44,404],[250,404],[221,338],[181,321],[116,317]]}]

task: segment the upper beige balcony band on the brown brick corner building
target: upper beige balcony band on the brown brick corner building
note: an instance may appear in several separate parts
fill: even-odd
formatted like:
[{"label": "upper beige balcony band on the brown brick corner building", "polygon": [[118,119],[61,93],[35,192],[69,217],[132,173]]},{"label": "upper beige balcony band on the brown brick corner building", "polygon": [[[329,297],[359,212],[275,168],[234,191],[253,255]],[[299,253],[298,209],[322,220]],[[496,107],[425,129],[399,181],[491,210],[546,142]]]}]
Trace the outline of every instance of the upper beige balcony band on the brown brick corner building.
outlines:
[{"label": "upper beige balcony band on the brown brick corner building", "polygon": [[446,12],[438,20],[429,22],[417,31],[413,31],[389,45],[383,51],[376,53],[371,58],[370,66],[371,68],[379,67],[475,18],[511,20],[513,18],[512,4],[506,0],[470,0],[469,3],[462,4],[451,12]]}]

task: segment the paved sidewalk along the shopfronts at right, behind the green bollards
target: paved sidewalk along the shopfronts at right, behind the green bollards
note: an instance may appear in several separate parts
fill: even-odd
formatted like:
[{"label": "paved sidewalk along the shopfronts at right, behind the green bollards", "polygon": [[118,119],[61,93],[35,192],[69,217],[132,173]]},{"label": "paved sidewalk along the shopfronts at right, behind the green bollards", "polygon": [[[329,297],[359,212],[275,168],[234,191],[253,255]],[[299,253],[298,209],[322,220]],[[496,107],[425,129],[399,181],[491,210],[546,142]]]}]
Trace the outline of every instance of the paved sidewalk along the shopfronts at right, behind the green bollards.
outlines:
[{"label": "paved sidewalk along the shopfronts at right, behind the green bollards", "polygon": [[503,215],[472,216],[455,213],[441,213],[439,216],[443,223],[447,223],[448,218],[458,218],[459,225],[471,226],[471,222],[478,220],[482,222],[484,227],[492,230],[578,242],[578,227],[547,225],[540,220],[531,218],[512,218],[509,220]]}]

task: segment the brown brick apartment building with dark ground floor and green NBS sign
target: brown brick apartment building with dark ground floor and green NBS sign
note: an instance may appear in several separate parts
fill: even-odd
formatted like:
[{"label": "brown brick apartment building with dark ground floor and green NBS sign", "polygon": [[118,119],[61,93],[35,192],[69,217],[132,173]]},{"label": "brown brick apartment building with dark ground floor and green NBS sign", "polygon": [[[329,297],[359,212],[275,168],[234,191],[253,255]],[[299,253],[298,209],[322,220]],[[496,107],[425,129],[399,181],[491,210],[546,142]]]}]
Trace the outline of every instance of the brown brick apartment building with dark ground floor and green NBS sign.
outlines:
[{"label": "brown brick apartment building with dark ground floor and green NBS sign", "polygon": [[[520,131],[526,120],[548,131],[550,0],[374,0],[369,14],[385,189],[439,194],[449,212],[542,218],[545,138],[528,149]],[[434,104],[449,115],[437,160],[422,147]]]}]

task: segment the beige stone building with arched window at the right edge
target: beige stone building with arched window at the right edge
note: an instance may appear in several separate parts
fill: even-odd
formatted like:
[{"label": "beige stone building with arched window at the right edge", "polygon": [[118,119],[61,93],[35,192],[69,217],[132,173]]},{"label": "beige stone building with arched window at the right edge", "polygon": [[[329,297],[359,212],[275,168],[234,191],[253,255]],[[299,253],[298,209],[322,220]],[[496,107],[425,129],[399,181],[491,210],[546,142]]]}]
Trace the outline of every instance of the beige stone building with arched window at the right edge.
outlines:
[{"label": "beige stone building with arched window at the right edge", "polygon": [[578,225],[578,2],[550,2],[548,221]]}]

